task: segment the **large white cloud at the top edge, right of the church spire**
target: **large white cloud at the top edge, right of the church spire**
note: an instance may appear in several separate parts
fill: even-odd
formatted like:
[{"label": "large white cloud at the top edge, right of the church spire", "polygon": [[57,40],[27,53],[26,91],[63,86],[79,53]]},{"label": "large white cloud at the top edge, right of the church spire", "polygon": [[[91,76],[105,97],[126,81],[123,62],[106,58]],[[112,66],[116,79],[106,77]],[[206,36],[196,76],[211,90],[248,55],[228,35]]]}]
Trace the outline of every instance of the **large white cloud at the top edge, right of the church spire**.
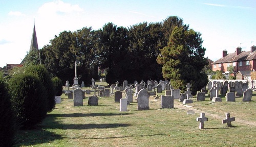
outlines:
[{"label": "large white cloud at the top edge, right of the church spire", "polygon": [[79,5],[71,5],[69,3],[63,3],[60,0],[53,1],[50,3],[45,3],[38,9],[40,15],[57,15],[61,13],[73,13],[73,12],[82,12],[83,9]]}]

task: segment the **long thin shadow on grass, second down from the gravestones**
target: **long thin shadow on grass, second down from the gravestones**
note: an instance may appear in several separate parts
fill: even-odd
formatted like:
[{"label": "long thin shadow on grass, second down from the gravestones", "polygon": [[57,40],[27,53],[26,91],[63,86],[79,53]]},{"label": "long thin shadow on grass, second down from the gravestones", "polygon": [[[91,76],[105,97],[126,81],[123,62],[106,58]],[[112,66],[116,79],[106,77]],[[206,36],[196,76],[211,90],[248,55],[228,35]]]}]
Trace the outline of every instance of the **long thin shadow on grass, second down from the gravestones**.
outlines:
[{"label": "long thin shadow on grass, second down from the gravestones", "polygon": [[88,130],[88,129],[107,129],[118,127],[129,127],[131,124],[60,124],[54,126],[45,126],[47,129],[61,129],[61,130]]}]

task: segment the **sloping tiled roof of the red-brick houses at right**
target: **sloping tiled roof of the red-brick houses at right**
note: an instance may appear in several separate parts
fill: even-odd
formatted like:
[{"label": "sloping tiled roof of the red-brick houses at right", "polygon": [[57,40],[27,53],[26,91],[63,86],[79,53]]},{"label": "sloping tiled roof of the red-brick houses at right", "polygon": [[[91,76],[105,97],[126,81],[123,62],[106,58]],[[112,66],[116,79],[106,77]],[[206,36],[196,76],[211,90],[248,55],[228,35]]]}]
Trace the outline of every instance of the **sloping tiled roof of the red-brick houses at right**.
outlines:
[{"label": "sloping tiled roof of the red-brick houses at right", "polygon": [[238,62],[238,61],[246,61],[246,60],[256,60],[256,51],[254,52],[241,52],[238,56],[235,53],[230,53],[225,57],[220,58],[219,60],[215,61],[211,64],[218,64],[218,63],[229,63],[229,62]]}]

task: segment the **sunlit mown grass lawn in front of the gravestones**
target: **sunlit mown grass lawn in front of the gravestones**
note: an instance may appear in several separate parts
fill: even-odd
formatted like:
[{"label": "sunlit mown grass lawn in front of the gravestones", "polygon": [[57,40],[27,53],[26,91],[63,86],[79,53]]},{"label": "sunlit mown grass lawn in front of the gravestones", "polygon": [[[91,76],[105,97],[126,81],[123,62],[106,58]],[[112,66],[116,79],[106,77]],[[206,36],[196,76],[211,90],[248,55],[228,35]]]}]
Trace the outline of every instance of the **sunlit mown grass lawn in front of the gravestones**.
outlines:
[{"label": "sunlit mown grass lawn in front of the gravestones", "polygon": [[[93,93],[93,92],[92,92]],[[162,93],[163,94],[163,93]],[[158,94],[159,95],[159,94]],[[200,130],[196,117],[183,109],[160,109],[160,99],[150,96],[150,110],[138,111],[137,103],[120,112],[120,104],[114,97],[99,97],[98,106],[74,107],[73,100],[61,96],[46,119],[35,130],[18,132],[16,146],[256,146],[256,127],[232,122],[227,127],[221,119],[208,117],[205,129]],[[136,97],[134,97],[135,99]],[[204,112],[255,121],[256,96],[251,102],[211,103],[207,101],[189,104]],[[175,100],[174,107],[182,103]]]}]

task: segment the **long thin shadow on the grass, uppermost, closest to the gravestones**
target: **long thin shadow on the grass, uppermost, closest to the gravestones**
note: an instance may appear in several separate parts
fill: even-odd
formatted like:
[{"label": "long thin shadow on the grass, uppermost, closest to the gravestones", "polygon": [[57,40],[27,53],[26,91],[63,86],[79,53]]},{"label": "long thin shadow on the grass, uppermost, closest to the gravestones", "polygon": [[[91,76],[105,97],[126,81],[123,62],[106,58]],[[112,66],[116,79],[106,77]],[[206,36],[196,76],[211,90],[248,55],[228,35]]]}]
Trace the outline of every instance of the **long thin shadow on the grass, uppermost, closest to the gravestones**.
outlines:
[{"label": "long thin shadow on the grass, uppermost, closest to the gravestones", "polygon": [[70,114],[47,114],[47,117],[94,117],[94,116],[117,116],[131,115],[133,113],[70,113]]}]

